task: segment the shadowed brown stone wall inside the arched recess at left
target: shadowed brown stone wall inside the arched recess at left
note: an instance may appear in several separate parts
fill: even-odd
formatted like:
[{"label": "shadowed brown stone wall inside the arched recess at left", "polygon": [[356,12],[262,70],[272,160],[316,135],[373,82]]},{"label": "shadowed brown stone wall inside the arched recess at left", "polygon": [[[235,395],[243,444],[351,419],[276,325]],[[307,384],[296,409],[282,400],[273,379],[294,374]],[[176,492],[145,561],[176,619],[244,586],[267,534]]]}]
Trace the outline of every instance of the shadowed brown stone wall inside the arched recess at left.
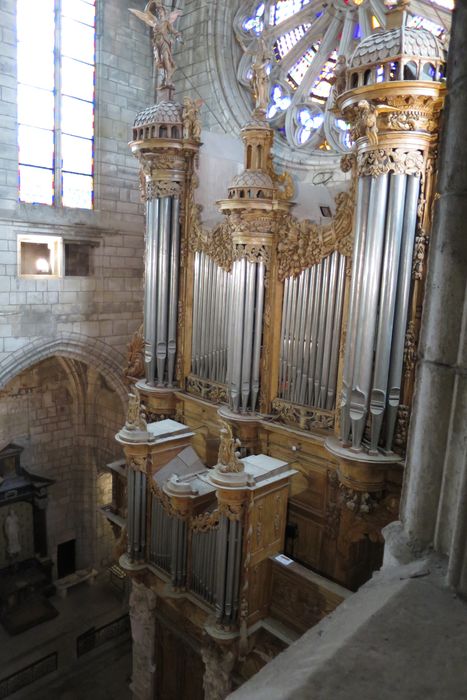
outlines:
[{"label": "shadowed brown stone wall inside the arched recess at left", "polygon": [[105,378],[84,363],[50,358],[20,373],[0,392],[2,412],[16,418],[21,463],[55,480],[49,490],[48,552],[76,539],[77,568],[111,561],[114,537],[97,511],[110,498],[106,463],[120,456],[114,435],[123,406]]}]

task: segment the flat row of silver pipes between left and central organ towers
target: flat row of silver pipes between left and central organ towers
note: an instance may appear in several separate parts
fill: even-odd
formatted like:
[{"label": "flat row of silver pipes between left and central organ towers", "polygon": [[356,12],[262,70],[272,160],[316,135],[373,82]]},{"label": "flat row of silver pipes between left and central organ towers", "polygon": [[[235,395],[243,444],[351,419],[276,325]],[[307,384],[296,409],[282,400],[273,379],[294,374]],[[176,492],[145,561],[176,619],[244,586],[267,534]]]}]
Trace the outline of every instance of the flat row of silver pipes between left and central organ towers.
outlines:
[{"label": "flat row of silver pipes between left and central organ towers", "polygon": [[191,371],[225,384],[231,275],[204,253],[195,254]]}]

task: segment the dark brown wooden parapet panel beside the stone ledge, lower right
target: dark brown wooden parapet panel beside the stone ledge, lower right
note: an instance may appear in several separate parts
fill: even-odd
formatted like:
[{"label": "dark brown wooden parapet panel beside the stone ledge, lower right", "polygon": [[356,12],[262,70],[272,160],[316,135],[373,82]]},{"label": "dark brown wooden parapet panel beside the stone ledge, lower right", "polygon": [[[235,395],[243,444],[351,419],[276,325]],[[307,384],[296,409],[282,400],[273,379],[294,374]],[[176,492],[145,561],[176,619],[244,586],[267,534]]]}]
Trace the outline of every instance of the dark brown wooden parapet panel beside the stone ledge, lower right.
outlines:
[{"label": "dark brown wooden parapet panel beside the stone ledge, lower right", "polygon": [[300,634],[332,612],[350,591],[327,581],[296,562],[275,560],[271,568],[269,614]]}]

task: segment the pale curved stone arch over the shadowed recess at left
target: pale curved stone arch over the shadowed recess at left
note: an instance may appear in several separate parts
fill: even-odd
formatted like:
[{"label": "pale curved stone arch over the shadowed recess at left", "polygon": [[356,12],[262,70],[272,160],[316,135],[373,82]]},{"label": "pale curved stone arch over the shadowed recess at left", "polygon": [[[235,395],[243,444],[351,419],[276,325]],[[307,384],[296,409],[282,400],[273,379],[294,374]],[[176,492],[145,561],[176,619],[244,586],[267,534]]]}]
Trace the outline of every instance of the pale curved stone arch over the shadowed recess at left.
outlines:
[{"label": "pale curved stone arch over the shadowed recess at left", "polygon": [[36,338],[7,355],[0,362],[0,388],[23,370],[53,355],[72,357],[97,369],[126,405],[128,389],[123,381],[123,355],[102,340],[79,333],[60,333],[50,339]]}]

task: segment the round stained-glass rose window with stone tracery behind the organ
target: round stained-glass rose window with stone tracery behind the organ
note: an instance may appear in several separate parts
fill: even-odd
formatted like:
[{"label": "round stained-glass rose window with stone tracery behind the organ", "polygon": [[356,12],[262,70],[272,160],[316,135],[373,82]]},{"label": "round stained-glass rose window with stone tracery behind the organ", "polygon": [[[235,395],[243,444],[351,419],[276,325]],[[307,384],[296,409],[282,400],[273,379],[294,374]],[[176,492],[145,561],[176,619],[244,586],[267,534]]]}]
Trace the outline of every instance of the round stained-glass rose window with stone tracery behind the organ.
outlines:
[{"label": "round stained-glass rose window with stone tracery behind the organ", "polygon": [[[414,0],[407,26],[446,36],[453,0]],[[258,38],[271,46],[267,118],[295,150],[345,152],[347,124],[336,117],[333,84],[338,56],[351,56],[359,41],[385,26],[383,0],[245,0],[235,18],[243,49],[237,71],[250,88],[251,61]]]}]

